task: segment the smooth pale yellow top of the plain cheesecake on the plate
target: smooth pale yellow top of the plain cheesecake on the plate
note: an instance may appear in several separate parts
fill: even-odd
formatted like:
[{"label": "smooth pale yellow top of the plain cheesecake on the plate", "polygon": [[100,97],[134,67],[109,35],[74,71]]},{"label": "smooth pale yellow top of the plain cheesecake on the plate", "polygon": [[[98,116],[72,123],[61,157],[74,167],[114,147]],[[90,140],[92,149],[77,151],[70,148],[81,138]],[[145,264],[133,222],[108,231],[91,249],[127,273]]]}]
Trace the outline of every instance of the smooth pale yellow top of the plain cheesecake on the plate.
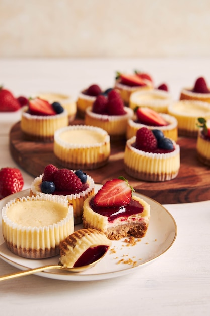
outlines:
[{"label": "smooth pale yellow top of the plain cheesecake on the plate", "polygon": [[68,207],[53,201],[15,203],[7,210],[7,217],[21,226],[44,227],[53,225],[68,214]]}]

